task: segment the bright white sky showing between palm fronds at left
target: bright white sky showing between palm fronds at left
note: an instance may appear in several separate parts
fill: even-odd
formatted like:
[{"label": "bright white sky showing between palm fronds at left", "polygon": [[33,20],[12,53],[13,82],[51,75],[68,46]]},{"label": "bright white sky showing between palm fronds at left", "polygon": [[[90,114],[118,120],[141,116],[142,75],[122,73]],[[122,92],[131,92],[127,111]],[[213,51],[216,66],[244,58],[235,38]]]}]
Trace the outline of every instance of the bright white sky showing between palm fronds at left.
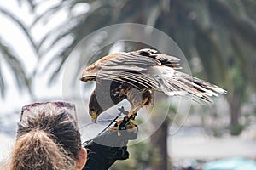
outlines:
[{"label": "bright white sky showing between palm fronds at left", "polygon": [[[0,3],[1,8],[7,9],[10,13],[15,14],[15,16],[22,21],[27,27],[31,26],[34,19],[34,15],[30,13],[29,6],[26,3],[22,3],[21,6],[17,3],[17,0],[9,0],[4,3]],[[37,14],[41,14],[45,9],[51,7],[55,3],[58,3],[58,0],[55,1],[46,1],[41,8],[38,8]],[[81,10],[82,8],[77,8]],[[59,25],[61,22],[66,20],[67,12],[61,11],[56,14],[55,17],[51,17],[49,22],[38,23],[36,26],[32,27],[32,37],[38,42],[45,33],[55,26]],[[49,61],[49,59],[54,56],[57,49],[54,49],[47,56],[44,57],[44,60],[40,61],[40,67],[38,67],[38,58],[33,52],[30,43],[27,41],[24,33],[20,31],[20,28],[13,24],[13,22],[3,14],[0,14],[1,27],[0,35],[3,37],[3,41],[6,42],[15,50],[15,54],[20,56],[22,64],[25,65],[27,75],[31,75],[35,69],[41,72],[35,79],[33,84],[33,91],[36,94],[36,99],[49,99],[49,94],[51,97],[61,98],[61,79],[57,80],[55,84],[51,87],[47,87],[47,82],[49,75],[52,73],[54,68],[47,69],[46,72],[42,73],[44,66]],[[1,59],[2,57],[0,57]],[[18,88],[15,85],[15,82],[12,78],[12,75],[9,71],[9,68],[4,65],[3,73],[5,75],[5,82],[7,85],[7,95],[4,99],[0,98],[1,112],[9,113],[11,111],[20,111],[22,105],[26,105],[32,101],[30,95],[25,92],[19,92]],[[2,68],[1,68],[2,69]],[[0,115],[2,113],[0,112]]]}]

